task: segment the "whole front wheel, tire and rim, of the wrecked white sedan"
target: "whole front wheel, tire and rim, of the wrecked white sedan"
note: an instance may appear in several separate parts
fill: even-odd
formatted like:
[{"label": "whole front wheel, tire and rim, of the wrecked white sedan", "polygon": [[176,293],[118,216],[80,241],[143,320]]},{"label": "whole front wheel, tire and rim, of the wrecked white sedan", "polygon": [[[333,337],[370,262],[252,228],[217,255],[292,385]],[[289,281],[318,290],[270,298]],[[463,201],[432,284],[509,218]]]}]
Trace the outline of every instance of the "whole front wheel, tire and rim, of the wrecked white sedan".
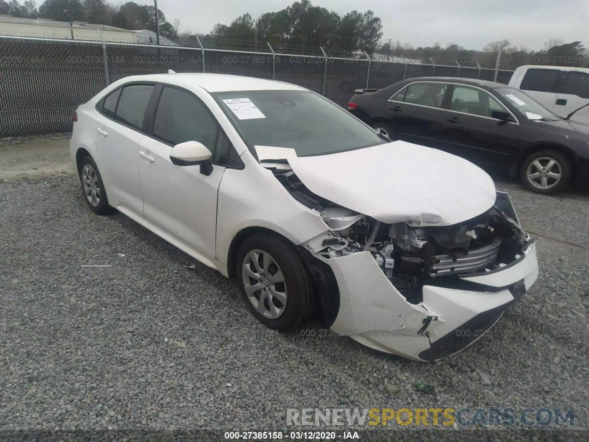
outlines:
[{"label": "whole front wheel, tire and rim, of the wrecked white sedan", "polygon": [[268,233],[246,238],[237,254],[237,283],[256,319],[289,331],[311,309],[312,282],[299,253],[287,240]]}]

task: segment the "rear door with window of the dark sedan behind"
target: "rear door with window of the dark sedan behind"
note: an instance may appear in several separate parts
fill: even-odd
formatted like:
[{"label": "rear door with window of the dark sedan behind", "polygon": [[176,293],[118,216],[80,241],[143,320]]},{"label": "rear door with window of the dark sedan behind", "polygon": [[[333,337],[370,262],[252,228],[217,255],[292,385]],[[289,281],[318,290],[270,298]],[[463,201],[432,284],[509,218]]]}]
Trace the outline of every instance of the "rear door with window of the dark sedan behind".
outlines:
[{"label": "rear door with window of the dark sedan behind", "polygon": [[386,102],[385,113],[395,134],[402,140],[440,147],[448,85],[439,81],[417,81],[402,88]]}]

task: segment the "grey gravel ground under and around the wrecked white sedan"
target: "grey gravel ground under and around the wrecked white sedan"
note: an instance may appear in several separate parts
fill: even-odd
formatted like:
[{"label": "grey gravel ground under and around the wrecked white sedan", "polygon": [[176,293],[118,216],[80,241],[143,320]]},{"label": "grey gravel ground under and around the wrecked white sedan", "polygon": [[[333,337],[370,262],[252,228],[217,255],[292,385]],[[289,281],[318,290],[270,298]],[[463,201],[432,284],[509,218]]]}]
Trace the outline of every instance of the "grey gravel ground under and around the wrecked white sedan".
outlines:
[{"label": "grey gravel ground under and around the wrecked white sedan", "polygon": [[284,430],[286,407],[495,405],[575,408],[587,428],[589,197],[501,187],[524,227],[554,238],[537,236],[540,277],[494,337],[423,364],[264,328],[233,281],[183,268],[187,255],[121,214],[93,215],[71,173],[2,182],[0,430]]}]

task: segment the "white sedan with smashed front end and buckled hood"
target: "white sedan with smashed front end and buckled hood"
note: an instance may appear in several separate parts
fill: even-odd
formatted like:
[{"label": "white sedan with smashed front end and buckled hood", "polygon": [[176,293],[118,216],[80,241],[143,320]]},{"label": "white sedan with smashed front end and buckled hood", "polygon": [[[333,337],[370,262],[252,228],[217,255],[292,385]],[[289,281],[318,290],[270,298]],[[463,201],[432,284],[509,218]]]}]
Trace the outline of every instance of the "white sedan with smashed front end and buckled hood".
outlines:
[{"label": "white sedan with smashed front end and buckled hood", "polygon": [[92,211],[236,277],[278,331],[319,311],[337,334],[432,361],[484,335],[538,276],[487,173],[296,85],[123,78],[78,107],[70,150]]}]

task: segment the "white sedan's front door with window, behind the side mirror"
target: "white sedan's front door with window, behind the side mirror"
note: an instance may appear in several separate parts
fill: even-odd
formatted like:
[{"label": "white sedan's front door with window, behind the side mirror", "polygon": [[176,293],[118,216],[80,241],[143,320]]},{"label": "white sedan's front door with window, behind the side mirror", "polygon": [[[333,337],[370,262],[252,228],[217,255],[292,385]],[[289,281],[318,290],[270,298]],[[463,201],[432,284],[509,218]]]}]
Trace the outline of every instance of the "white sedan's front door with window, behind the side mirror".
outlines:
[{"label": "white sedan's front door with window, behind the side mirror", "polygon": [[[219,151],[229,144],[227,137],[196,95],[169,85],[161,87],[150,135],[141,140],[138,151],[144,218],[214,259],[217,194],[225,171],[218,160]],[[200,166],[172,164],[172,147],[184,141],[199,141],[211,150],[209,175],[201,173]]]}]

